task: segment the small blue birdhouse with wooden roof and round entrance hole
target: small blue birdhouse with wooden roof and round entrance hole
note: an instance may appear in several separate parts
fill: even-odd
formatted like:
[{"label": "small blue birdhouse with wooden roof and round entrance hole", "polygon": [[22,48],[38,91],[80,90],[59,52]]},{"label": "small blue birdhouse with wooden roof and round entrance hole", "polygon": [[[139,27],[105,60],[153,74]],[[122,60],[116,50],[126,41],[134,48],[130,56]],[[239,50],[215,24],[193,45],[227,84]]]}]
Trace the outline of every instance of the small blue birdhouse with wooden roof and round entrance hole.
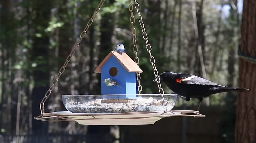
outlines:
[{"label": "small blue birdhouse with wooden roof and round entrance hole", "polygon": [[[94,72],[101,73],[101,94],[126,94],[111,98],[131,98],[137,94],[136,72],[143,71],[126,53],[111,51]],[[119,86],[107,86],[104,83],[107,78],[117,82]]]}]

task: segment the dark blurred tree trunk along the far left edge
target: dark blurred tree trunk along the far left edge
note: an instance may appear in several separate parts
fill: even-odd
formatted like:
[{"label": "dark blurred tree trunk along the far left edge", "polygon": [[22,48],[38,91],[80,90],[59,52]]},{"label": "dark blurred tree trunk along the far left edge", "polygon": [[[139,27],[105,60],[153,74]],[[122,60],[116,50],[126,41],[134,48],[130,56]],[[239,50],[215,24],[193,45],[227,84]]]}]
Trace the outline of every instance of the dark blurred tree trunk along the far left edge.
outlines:
[{"label": "dark blurred tree trunk along the far left edge", "polygon": [[[15,14],[14,14],[14,1],[1,1],[2,9],[1,9],[1,21],[0,21],[0,31],[2,34],[0,36],[0,40],[2,41],[2,47],[1,47],[1,68],[2,68],[2,77],[1,80],[3,82],[2,84],[2,95],[1,96],[1,104],[0,104],[0,110],[1,110],[1,118],[0,123],[2,126],[2,129],[5,133],[13,133],[12,129],[15,128],[15,104],[13,104],[13,98],[17,98],[17,96],[13,96],[13,93],[15,92],[14,84],[12,84],[12,81],[15,77],[15,72],[12,70],[12,66],[15,64],[15,50],[16,50],[16,35],[17,35],[17,25],[15,24]],[[4,116],[6,115],[6,116]],[[9,124],[10,121],[13,121],[14,123],[11,125]]]}]

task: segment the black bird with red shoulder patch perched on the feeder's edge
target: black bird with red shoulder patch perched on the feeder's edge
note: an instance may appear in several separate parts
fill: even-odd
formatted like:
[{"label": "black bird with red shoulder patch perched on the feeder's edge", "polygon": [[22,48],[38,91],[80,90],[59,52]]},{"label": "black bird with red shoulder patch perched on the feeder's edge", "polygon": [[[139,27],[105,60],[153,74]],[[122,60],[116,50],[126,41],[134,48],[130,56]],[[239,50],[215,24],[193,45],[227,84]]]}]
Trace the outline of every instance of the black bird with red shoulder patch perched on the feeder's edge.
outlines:
[{"label": "black bird with red shoulder patch perched on the feeder's edge", "polygon": [[199,99],[200,103],[197,110],[199,110],[203,98],[209,97],[212,94],[227,91],[249,90],[246,88],[226,87],[204,78],[186,73],[177,74],[174,72],[163,72],[160,74],[160,81],[163,81],[174,93],[185,97],[186,101],[189,101],[190,98]]}]

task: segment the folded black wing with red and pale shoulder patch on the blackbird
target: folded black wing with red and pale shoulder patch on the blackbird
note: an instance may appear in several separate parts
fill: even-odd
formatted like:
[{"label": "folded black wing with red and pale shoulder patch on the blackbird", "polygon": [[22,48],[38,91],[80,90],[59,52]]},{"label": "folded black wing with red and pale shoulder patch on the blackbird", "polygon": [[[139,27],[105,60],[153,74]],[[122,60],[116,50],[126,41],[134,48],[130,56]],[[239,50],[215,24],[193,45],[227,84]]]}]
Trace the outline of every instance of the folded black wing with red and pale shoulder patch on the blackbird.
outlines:
[{"label": "folded black wing with red and pale shoulder patch on the blackbird", "polygon": [[176,82],[182,83],[182,84],[196,84],[196,85],[211,85],[211,86],[222,86],[215,82],[209,81],[207,79],[192,75],[192,74],[178,74],[176,76]]}]

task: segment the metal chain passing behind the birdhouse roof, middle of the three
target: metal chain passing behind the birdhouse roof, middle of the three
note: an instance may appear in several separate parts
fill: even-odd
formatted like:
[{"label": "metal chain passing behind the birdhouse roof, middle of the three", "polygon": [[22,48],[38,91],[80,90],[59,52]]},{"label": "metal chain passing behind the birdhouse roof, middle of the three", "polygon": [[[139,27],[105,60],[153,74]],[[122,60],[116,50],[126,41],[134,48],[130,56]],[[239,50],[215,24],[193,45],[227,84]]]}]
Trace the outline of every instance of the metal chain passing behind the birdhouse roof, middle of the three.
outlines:
[{"label": "metal chain passing behind the birdhouse roof, middle of the three", "polygon": [[[133,16],[133,4],[132,4],[132,0],[129,0],[129,11],[131,13],[131,17],[130,17],[130,22],[132,24],[132,36],[133,36],[133,52],[135,53],[135,58],[134,58],[134,62],[139,66],[139,58],[138,58],[138,46],[137,46],[137,42],[136,42],[136,29],[134,28],[134,23],[135,23],[135,18]],[[138,91],[139,94],[141,94],[142,92],[142,86],[140,85],[140,73],[137,72],[136,73],[137,76],[137,81],[138,81]]]}]

